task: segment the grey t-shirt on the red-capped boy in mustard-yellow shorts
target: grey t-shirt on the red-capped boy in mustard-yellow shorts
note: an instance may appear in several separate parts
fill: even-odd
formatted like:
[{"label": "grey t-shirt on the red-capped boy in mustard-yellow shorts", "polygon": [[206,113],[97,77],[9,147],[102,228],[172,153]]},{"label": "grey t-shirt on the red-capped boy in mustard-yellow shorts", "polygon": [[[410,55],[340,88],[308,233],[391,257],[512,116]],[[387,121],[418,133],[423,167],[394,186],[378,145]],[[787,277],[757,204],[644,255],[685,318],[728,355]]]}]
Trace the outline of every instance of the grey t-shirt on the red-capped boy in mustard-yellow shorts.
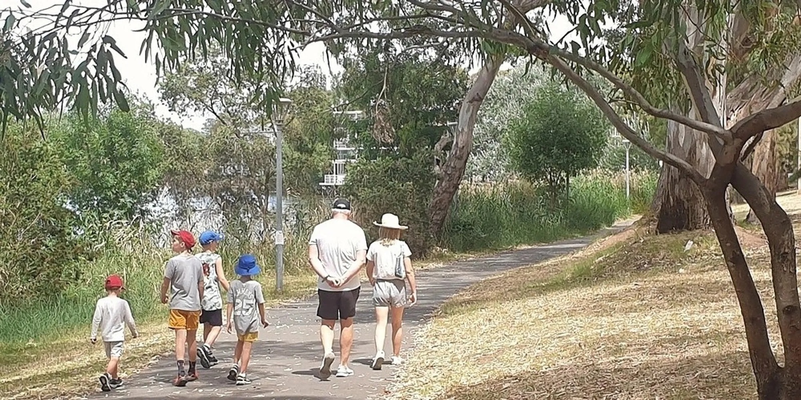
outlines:
[{"label": "grey t-shirt on the red-capped boy in mustard-yellow shorts", "polygon": [[198,283],[203,282],[203,263],[197,257],[179,254],[170,258],[164,278],[170,280],[170,310],[200,310]]}]

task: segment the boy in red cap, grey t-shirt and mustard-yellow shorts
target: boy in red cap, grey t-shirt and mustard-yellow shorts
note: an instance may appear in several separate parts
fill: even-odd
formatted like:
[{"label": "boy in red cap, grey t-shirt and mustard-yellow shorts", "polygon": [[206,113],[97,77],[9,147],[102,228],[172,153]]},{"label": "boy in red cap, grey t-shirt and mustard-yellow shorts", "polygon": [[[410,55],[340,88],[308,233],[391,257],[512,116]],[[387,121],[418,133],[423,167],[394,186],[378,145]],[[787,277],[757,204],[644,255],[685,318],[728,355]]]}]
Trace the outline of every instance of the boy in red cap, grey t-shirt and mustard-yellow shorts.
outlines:
[{"label": "boy in red cap, grey t-shirt and mustard-yellow shorts", "polygon": [[[172,251],[175,256],[164,266],[161,284],[161,302],[170,304],[169,327],[175,331],[175,363],[178,375],[175,386],[187,386],[195,381],[197,373],[197,330],[203,298],[203,263],[191,254],[195,237],[186,230],[171,230]],[[167,298],[167,290],[171,295]],[[189,347],[189,368],[184,367],[186,347]]]}]

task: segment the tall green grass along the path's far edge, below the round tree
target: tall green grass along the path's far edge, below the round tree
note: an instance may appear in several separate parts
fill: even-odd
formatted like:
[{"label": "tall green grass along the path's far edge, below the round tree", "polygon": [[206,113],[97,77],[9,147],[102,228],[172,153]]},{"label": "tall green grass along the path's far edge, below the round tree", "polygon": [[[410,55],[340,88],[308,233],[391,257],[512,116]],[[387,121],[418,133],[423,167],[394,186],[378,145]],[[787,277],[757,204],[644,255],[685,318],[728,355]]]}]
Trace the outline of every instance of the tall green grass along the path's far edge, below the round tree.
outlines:
[{"label": "tall green grass along the path's far edge, below the round tree", "polygon": [[585,174],[574,178],[569,200],[555,209],[527,182],[465,187],[457,195],[442,244],[476,251],[586,234],[647,210],[656,178],[654,173],[633,173],[627,201],[622,174]]}]

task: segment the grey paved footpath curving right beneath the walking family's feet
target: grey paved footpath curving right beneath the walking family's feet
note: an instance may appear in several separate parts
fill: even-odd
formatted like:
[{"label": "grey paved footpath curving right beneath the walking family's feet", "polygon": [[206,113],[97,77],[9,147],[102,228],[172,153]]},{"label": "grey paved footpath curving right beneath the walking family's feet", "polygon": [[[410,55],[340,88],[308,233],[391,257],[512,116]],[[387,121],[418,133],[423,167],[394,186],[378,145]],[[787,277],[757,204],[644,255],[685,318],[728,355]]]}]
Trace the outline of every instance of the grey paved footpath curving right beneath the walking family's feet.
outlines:
[{"label": "grey paved footpath curving right beneath the walking family's feet", "polygon": [[[535,246],[522,250],[511,250],[489,257],[473,258],[454,262],[417,273],[419,299],[416,306],[406,310],[404,316],[405,347],[408,354],[417,326],[425,323],[433,311],[458,290],[483,278],[518,266],[557,257],[579,250],[602,235],[614,233],[629,226],[632,221],[602,230],[585,238],[576,238],[548,245]],[[370,369],[369,363],[374,355],[372,312],[372,288],[362,286],[357,305],[355,338],[351,355],[352,377],[336,378],[332,375],[326,381],[317,378],[322,350],[319,332],[320,320],[316,317],[316,297],[303,302],[295,302],[268,310],[270,326],[260,333],[256,342],[248,371],[252,379],[250,386],[235,386],[225,378],[231,366],[235,335],[220,335],[215,346],[219,364],[209,370],[199,369],[200,379],[189,382],[186,387],[171,385],[175,377],[175,358],[167,356],[134,377],[128,378],[125,385],[111,393],[98,392],[89,398],[128,398],[128,399],[177,399],[177,398],[264,398],[272,400],[316,400],[324,398],[348,398],[367,400],[380,396],[388,382],[392,380],[395,367],[384,366],[380,371]],[[337,327],[338,330],[338,327]],[[334,341],[337,358],[332,369],[339,365],[338,339]],[[392,345],[384,350],[391,354]],[[123,359],[124,363],[124,359]],[[124,367],[124,366],[123,366]],[[199,364],[198,364],[199,367]],[[92,382],[94,384],[94,382]]]}]

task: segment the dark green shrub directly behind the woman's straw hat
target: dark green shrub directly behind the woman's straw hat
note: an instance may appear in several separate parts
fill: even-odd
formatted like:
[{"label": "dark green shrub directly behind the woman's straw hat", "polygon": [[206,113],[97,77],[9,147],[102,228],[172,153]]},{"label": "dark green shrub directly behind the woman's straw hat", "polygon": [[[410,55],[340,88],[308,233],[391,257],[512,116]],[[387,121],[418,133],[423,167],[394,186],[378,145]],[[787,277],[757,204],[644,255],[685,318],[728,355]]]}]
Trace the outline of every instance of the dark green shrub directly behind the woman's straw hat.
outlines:
[{"label": "dark green shrub directly behind the woman's straw hat", "polygon": [[384,213],[396,214],[409,226],[404,240],[415,257],[422,257],[433,246],[429,202],[434,175],[428,162],[431,154],[420,150],[410,157],[361,159],[348,170],[341,194],[352,199],[356,221],[377,238],[372,225]]}]

